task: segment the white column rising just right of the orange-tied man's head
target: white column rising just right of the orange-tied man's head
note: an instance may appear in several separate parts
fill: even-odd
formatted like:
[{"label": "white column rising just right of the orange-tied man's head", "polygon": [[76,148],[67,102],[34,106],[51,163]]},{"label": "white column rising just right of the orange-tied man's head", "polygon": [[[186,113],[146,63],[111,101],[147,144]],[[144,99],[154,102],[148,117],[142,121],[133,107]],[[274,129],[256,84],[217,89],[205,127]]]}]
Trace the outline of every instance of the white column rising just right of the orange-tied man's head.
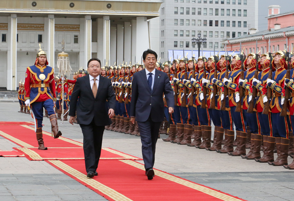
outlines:
[{"label": "white column rising just right of the orange-tied man's head", "polygon": [[[109,16],[103,16],[103,55],[102,66],[110,59],[110,20]],[[102,61],[103,60],[103,61]]]}]

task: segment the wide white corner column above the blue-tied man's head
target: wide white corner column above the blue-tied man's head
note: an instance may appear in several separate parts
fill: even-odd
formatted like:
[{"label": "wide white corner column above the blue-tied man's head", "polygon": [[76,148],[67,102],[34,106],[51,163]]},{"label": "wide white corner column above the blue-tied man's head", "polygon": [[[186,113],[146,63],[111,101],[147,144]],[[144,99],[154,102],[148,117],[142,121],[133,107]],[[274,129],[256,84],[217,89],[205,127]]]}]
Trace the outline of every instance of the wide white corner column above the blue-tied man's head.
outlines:
[{"label": "wide white corner column above the blue-tied man's head", "polygon": [[142,55],[149,48],[149,33],[146,17],[137,17],[136,55]]}]

